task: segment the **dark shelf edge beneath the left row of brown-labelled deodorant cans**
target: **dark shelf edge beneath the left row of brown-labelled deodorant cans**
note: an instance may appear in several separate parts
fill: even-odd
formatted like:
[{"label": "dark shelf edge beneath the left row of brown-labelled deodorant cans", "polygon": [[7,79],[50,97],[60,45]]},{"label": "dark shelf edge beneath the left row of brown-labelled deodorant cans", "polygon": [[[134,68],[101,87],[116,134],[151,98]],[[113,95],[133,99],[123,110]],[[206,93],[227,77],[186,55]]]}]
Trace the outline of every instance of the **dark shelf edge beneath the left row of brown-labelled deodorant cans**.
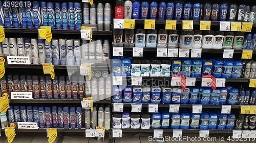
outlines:
[{"label": "dark shelf edge beneath the left row of brown-labelled deodorant cans", "polygon": [[[82,100],[75,99],[10,99],[10,103],[51,103],[51,104],[81,104]],[[93,104],[111,104],[111,101],[100,100],[94,101]]]}]

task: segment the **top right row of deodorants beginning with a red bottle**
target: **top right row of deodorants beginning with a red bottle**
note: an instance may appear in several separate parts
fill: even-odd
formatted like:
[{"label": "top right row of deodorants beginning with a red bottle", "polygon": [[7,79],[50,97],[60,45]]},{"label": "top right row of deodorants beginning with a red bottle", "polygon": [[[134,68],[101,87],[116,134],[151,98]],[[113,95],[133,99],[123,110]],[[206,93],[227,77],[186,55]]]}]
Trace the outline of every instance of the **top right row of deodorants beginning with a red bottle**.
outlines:
[{"label": "top right row of deodorants beginning with a red bottle", "polygon": [[115,18],[159,20],[255,21],[256,6],[116,1]]}]

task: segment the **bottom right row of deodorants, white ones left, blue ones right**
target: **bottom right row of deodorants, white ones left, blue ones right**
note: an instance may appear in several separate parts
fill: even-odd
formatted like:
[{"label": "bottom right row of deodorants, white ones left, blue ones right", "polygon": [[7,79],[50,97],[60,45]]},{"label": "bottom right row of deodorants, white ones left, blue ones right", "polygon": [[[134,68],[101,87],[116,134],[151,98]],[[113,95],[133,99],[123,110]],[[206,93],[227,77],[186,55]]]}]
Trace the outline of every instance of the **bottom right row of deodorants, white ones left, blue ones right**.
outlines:
[{"label": "bottom right row of deodorants, white ones left, blue ones right", "polygon": [[[132,129],[234,129],[236,115],[222,114],[214,110],[208,112],[191,113],[180,109],[180,113],[169,113],[166,110],[156,113],[113,113],[113,128]],[[255,122],[255,121],[254,121]],[[254,123],[255,124],[255,123]],[[255,126],[254,126],[255,127]]]}]

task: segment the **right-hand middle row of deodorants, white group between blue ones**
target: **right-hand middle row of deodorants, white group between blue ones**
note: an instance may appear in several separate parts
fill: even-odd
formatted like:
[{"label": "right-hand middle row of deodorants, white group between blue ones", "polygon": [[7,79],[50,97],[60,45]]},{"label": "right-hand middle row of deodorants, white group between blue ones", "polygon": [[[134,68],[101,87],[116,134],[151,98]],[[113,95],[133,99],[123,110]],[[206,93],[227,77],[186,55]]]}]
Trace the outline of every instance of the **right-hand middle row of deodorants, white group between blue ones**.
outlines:
[{"label": "right-hand middle row of deodorants, white group between blue ones", "polygon": [[[255,63],[252,63],[255,71]],[[247,68],[247,66],[246,66]],[[151,76],[170,77],[173,75],[183,75],[184,77],[202,77],[213,75],[217,78],[240,78],[243,70],[243,62],[234,60],[132,60],[131,58],[115,57],[112,59],[113,76]],[[251,78],[255,77],[255,72],[249,71]],[[248,78],[247,72],[245,78]]]}]

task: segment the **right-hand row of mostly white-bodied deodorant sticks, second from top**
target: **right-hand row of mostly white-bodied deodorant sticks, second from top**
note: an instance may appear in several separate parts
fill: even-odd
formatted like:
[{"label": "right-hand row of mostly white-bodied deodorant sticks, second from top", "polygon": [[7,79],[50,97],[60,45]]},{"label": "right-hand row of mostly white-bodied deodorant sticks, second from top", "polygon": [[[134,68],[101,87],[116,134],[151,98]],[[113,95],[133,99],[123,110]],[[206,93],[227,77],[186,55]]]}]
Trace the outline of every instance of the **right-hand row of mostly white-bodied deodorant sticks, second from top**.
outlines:
[{"label": "right-hand row of mostly white-bodied deodorant sticks, second from top", "polygon": [[[244,32],[193,31],[182,30],[113,30],[114,47],[169,47],[169,48],[205,48],[205,49],[254,49],[256,34],[248,34],[244,40]],[[124,39],[123,40],[123,36]],[[135,36],[135,38],[134,38]]]}]

